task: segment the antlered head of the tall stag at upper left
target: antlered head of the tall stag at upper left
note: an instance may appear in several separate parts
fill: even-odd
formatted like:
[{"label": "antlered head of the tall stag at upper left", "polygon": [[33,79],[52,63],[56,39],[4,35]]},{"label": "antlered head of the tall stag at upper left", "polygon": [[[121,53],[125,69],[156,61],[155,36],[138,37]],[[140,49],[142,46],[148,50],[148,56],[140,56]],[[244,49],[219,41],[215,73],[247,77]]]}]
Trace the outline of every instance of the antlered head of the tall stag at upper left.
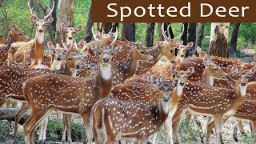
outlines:
[{"label": "antlered head of the tall stag at upper left", "polygon": [[36,26],[36,35],[38,34],[44,34],[46,30],[46,26],[49,25],[51,22],[54,21],[54,18],[51,17],[51,14],[54,10],[54,3],[52,8],[49,11],[49,14],[47,14],[43,19],[38,18],[36,14],[33,12],[33,7],[30,7],[30,1],[28,2],[29,8],[30,8],[30,22]]}]

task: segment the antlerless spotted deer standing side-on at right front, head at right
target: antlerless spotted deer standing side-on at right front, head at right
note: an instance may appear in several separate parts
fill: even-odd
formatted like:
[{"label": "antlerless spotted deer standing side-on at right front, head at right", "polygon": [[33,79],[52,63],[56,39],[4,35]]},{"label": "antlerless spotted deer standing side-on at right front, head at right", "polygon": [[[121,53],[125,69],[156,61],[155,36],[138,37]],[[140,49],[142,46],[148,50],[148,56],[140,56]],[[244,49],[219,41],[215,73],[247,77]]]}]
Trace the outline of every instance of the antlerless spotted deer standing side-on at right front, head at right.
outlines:
[{"label": "antlerless spotted deer standing side-on at right front, head at right", "polygon": [[[233,66],[232,70],[234,72],[237,71],[237,67]],[[254,72],[255,69],[252,68],[250,72],[243,71],[240,73],[240,78],[236,85],[237,90],[188,81],[184,87],[182,98],[178,103],[178,110],[174,114],[173,127],[178,143],[182,142],[178,134],[178,126],[186,110],[189,110],[192,114],[214,117],[214,122],[210,122],[208,126],[206,143],[209,143],[208,134],[210,135],[210,128],[213,126],[216,131],[216,143],[220,143],[222,121],[232,116],[245,100],[246,84],[249,78],[247,76]]]}]

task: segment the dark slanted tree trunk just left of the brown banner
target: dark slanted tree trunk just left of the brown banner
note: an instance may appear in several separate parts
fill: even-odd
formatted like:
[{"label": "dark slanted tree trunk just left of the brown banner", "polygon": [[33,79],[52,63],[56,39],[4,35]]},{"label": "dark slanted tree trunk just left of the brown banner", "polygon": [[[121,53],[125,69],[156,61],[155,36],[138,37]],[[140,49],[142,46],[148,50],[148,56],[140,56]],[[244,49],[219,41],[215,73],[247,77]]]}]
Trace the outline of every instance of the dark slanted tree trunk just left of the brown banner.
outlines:
[{"label": "dark slanted tree trunk just left of the brown banner", "polygon": [[93,34],[91,33],[91,27],[94,26],[94,22],[91,18],[91,6],[90,6],[90,12],[88,14],[88,19],[86,23],[86,30],[85,33],[83,34],[83,40],[86,42],[90,42],[91,38],[93,37]]}]

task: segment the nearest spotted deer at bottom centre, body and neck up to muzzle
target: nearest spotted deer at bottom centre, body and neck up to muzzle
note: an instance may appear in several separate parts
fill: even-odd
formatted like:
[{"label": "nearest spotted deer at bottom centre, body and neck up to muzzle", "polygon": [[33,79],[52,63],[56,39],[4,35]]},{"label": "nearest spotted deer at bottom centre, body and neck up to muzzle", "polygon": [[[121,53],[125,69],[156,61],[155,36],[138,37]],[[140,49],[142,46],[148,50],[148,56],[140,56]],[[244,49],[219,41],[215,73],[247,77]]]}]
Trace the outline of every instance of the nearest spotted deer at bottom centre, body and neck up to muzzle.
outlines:
[{"label": "nearest spotted deer at bottom centre, body and neck up to muzzle", "polygon": [[144,102],[125,101],[118,98],[103,98],[91,110],[95,143],[106,138],[106,143],[126,139],[146,143],[169,113],[168,95],[163,94],[155,105]]}]

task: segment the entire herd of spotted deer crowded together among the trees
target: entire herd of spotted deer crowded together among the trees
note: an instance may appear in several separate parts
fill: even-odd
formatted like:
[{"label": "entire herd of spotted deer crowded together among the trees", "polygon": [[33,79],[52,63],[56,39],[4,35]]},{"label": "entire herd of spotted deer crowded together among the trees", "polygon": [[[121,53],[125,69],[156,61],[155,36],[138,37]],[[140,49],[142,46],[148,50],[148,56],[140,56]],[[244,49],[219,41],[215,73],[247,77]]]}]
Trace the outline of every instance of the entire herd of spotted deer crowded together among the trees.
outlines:
[{"label": "entire herd of spotted deer crowded together among the trees", "polygon": [[[150,136],[155,142],[162,125],[166,143],[173,143],[173,129],[182,143],[178,126],[185,115],[197,121],[197,115],[208,116],[206,143],[213,128],[216,143],[222,142],[222,124],[230,117],[238,120],[236,131],[238,126],[242,130],[241,120],[247,120],[255,132],[255,56],[254,62],[246,63],[211,56],[197,47],[198,56],[185,58],[193,42],[186,46],[176,42],[163,25],[164,41],[153,47],[117,40],[117,28],[109,33],[92,29],[94,41],[77,44],[75,33],[82,26],[65,23],[61,25],[65,42],[62,46],[47,42],[46,54],[45,28],[53,21],[53,7],[43,19],[30,8],[29,20],[36,26],[33,40],[13,24],[7,40],[0,36],[0,106],[8,100],[22,102],[14,135],[22,114],[31,109],[23,125],[26,143],[34,143],[39,126],[39,142],[46,141],[52,111],[62,112],[63,142],[66,131],[67,142],[72,142],[71,114],[82,117],[88,143],[93,138],[96,143],[146,143]],[[162,56],[166,62],[159,61]]]}]

